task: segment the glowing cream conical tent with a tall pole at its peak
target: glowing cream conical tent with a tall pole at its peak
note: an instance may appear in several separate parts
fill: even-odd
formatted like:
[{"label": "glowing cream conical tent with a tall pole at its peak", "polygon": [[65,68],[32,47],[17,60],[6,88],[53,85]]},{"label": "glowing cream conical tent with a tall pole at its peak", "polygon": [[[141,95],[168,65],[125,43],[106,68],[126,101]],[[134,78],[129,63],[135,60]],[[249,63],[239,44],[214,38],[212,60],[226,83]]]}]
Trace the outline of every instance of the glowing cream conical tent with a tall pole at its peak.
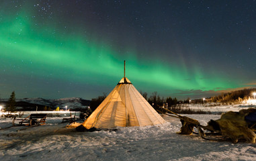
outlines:
[{"label": "glowing cream conical tent with a tall pole at its peak", "polygon": [[91,127],[110,129],[118,126],[145,126],[161,123],[165,123],[165,120],[140,95],[124,74],[124,78],[82,125],[87,129]]}]

